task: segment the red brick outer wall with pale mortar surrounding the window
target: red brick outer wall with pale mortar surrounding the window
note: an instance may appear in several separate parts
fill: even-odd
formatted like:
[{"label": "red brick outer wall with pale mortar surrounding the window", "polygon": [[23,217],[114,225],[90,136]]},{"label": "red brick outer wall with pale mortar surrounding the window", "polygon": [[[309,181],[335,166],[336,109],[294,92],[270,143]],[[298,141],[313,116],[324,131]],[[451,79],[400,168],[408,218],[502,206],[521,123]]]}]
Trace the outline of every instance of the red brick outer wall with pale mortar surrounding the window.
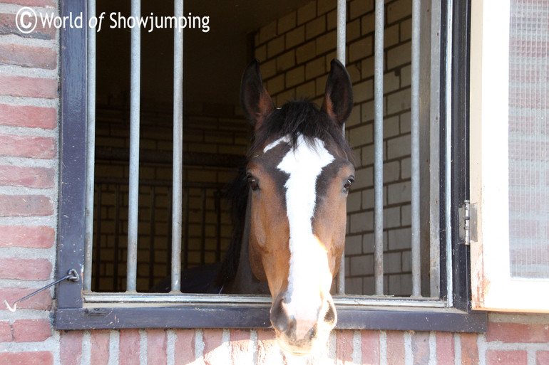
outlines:
[{"label": "red brick outer wall with pale mortar surrounding the window", "polygon": [[[324,3],[324,2],[323,2]],[[319,4],[305,6],[310,9]],[[352,3],[351,3],[352,4]],[[58,196],[58,33],[24,37],[10,19],[21,5],[0,1],[0,301],[13,303],[55,275]],[[55,11],[55,10],[53,10]],[[301,11],[297,11],[299,14]],[[50,36],[43,36],[43,34]],[[41,48],[41,53],[30,52]],[[33,63],[33,55],[41,62]],[[0,364],[294,364],[270,330],[125,329],[58,332],[53,290],[0,303]],[[334,331],[318,364],[549,364],[549,317],[490,314],[486,334]],[[312,363],[313,361],[311,361]]]}]

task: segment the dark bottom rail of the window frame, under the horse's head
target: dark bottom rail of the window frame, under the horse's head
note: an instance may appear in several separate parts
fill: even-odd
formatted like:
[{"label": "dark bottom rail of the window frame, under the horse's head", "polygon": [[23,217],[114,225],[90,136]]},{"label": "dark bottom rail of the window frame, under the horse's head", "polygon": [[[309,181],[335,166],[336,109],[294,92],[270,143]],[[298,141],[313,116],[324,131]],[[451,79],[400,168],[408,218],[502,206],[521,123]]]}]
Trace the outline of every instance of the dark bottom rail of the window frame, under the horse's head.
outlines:
[{"label": "dark bottom rail of the window frame, under the horse's head", "polygon": [[[103,307],[56,311],[56,329],[267,328],[269,306]],[[488,316],[449,309],[337,308],[337,329],[486,332]]]}]

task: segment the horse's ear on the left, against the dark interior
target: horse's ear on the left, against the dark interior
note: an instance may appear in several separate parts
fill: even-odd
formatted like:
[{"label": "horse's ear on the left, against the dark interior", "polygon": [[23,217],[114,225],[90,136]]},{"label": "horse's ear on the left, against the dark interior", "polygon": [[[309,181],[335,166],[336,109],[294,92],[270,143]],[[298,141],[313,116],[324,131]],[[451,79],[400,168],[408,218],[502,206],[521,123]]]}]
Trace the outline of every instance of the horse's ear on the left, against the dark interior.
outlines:
[{"label": "horse's ear on the left, against the dark interior", "polygon": [[263,86],[258,60],[252,60],[242,75],[240,103],[255,129],[261,127],[265,117],[275,110],[275,104]]}]

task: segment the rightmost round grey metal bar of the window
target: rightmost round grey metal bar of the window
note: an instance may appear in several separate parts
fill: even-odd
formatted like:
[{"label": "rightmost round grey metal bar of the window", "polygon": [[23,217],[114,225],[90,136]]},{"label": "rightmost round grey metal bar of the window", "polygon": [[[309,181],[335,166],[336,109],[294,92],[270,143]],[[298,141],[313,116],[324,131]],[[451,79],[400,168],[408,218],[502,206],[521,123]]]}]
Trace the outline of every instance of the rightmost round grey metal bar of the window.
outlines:
[{"label": "rightmost round grey metal bar of the window", "polygon": [[419,209],[419,53],[421,0],[412,1],[411,54],[411,255],[412,296],[421,296],[421,247]]}]

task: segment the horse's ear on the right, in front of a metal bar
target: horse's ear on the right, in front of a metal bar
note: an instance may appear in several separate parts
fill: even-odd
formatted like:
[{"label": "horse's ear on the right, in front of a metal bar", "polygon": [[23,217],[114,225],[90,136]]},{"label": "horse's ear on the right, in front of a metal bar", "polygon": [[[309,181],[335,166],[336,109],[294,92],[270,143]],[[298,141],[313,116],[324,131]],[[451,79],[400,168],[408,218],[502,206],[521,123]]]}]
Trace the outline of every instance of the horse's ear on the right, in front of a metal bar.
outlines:
[{"label": "horse's ear on the right, in front of a metal bar", "polygon": [[332,60],[321,110],[343,125],[353,108],[351,78],[339,60]]}]

